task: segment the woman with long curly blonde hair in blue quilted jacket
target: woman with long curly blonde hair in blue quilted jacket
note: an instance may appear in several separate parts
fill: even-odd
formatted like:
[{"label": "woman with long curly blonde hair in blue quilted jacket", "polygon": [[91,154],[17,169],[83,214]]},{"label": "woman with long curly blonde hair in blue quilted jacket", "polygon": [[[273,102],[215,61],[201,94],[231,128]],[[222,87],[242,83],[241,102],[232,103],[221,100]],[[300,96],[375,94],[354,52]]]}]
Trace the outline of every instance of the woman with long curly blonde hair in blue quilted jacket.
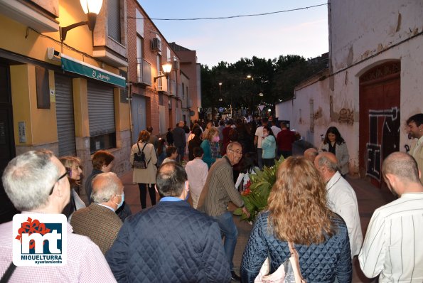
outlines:
[{"label": "woman with long curly blonde hair in blue quilted jacket", "polygon": [[266,257],[275,272],[290,257],[288,242],[307,282],[351,282],[346,223],[329,210],[325,184],[302,156],[290,156],[277,170],[268,210],[257,217],[242,255],[242,282],[254,282]]}]

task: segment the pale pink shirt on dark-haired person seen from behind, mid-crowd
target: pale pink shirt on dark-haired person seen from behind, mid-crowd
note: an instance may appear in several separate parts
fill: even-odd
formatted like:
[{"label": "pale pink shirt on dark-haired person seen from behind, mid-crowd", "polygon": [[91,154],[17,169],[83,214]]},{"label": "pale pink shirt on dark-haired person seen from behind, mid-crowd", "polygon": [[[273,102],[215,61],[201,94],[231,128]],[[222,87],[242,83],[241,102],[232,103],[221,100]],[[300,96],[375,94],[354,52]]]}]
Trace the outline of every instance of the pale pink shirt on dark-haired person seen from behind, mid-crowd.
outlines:
[{"label": "pale pink shirt on dark-haired person seen from behind, mid-crowd", "polygon": [[193,159],[185,166],[189,188],[192,193],[200,195],[207,179],[208,166],[203,159]]}]

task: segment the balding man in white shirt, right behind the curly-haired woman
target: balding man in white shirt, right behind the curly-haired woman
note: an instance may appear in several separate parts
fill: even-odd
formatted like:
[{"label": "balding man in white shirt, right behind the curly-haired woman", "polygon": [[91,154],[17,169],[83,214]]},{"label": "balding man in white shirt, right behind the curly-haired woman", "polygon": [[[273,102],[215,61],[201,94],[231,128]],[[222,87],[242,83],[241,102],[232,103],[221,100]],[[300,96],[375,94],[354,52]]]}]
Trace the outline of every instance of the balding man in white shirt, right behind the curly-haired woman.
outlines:
[{"label": "balding man in white shirt, right behind the curly-haired woman", "polygon": [[329,208],[341,215],[348,228],[351,257],[358,255],[363,244],[360,214],[358,213],[357,196],[350,184],[338,171],[338,160],[331,152],[322,152],[314,160],[314,165],[326,182],[326,197]]}]

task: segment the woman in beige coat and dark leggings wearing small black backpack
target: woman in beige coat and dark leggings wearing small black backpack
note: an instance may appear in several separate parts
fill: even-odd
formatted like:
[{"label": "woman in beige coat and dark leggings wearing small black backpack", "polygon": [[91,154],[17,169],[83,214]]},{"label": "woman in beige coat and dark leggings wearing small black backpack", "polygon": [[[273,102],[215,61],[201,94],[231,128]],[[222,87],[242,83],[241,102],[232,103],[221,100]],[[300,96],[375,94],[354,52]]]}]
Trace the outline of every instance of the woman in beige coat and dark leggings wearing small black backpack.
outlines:
[{"label": "woman in beige coat and dark leggings wearing small black backpack", "polygon": [[154,184],[156,183],[156,172],[157,172],[157,156],[154,150],[154,145],[149,144],[150,133],[146,130],[139,132],[138,141],[132,146],[130,163],[134,164],[134,155],[139,151],[144,151],[145,159],[147,162],[146,169],[134,168],[132,173],[132,181],[138,183],[139,187],[139,200],[141,202],[141,209],[147,207],[146,197],[147,189],[150,195],[151,205],[156,204],[156,190]]}]

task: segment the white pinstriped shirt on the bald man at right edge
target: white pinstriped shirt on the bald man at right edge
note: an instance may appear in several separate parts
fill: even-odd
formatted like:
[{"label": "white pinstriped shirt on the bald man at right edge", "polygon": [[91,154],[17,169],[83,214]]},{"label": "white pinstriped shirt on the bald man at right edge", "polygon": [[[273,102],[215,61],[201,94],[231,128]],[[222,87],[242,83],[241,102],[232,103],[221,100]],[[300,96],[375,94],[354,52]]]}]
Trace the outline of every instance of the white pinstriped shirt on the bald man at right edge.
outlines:
[{"label": "white pinstriped shirt on the bald man at right edge", "polygon": [[405,193],[375,210],[358,255],[366,277],[423,282],[423,193]]}]

